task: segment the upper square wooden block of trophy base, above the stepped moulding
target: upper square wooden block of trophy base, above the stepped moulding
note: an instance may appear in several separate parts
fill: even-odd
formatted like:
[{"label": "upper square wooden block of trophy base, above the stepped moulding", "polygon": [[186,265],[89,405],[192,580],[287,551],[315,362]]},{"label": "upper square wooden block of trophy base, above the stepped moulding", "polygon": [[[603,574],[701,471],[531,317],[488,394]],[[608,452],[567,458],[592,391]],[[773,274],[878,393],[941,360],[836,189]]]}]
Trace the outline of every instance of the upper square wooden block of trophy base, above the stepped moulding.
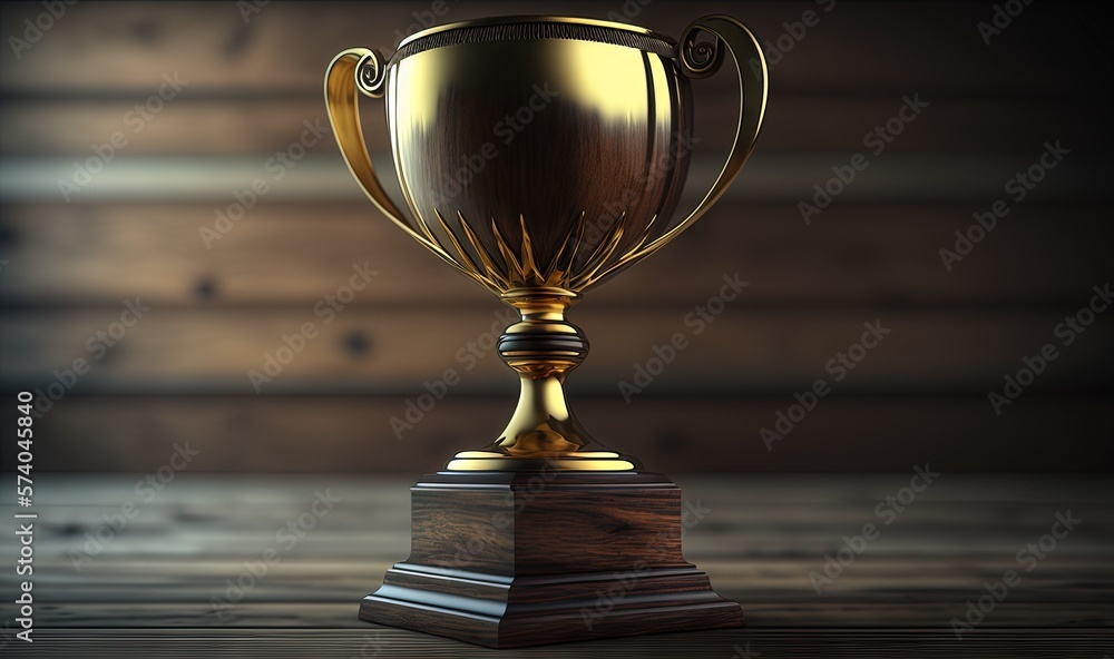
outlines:
[{"label": "upper square wooden block of trophy base, above the stepped moulding", "polygon": [[506,577],[686,565],[681,490],[661,474],[444,472],[411,498],[408,563]]}]

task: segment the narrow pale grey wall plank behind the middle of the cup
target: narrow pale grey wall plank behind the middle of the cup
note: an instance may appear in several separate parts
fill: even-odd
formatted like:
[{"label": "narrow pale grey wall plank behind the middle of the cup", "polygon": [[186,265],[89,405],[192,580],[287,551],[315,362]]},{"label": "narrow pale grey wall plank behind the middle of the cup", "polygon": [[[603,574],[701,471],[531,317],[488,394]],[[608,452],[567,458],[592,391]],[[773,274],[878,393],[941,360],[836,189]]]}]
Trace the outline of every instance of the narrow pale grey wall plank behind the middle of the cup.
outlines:
[{"label": "narrow pale grey wall plank behind the middle of the cup", "polygon": [[[790,203],[794,209],[800,201],[823,206],[825,201],[814,200],[819,197],[813,186],[832,186],[833,190],[842,190],[837,195],[840,203],[979,200],[989,205],[1005,199],[1006,193],[1009,198],[1016,197],[1016,185],[1005,191],[1004,187],[1038,161],[1044,139],[1026,144],[1029,150],[1025,154],[887,154],[885,167],[868,165],[868,169],[856,176],[853,185],[842,187],[837,187],[839,180],[833,167],[850,167],[850,153],[759,151],[747,163],[746,174],[724,194],[724,200],[780,200]],[[3,180],[0,203],[212,204],[224,208],[236,204],[234,194],[244,197],[253,185],[272,203],[365,199],[340,154],[331,150],[290,160],[290,166],[273,155],[235,158],[124,155],[86,178],[82,168],[90,159],[94,168],[100,163],[95,155],[84,159],[61,156],[0,159],[0,180]],[[694,158],[688,168],[686,197],[682,199],[686,207],[695,206],[706,191],[707,181],[715,180],[722,166],[722,159],[711,154]],[[378,167],[387,173],[392,164],[383,156]],[[1097,201],[1102,199],[1101,184],[1108,178],[1108,171],[1110,164],[1093,155],[1066,158],[1056,166],[1055,176],[1046,176],[1025,198]],[[69,181],[72,187],[59,181]]]}]

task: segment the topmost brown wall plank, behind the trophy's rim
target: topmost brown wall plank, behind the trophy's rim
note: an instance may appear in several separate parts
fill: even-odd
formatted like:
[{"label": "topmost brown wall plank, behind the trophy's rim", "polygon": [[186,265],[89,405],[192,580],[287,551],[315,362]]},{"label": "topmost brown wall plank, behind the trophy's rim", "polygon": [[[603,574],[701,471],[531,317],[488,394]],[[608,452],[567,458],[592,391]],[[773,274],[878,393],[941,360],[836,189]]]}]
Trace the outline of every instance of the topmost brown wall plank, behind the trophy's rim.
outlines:
[{"label": "topmost brown wall plank, behind the trophy's rim", "polygon": [[[775,81],[782,89],[909,92],[917,91],[909,89],[909,81],[916,80],[926,92],[987,95],[985,82],[994,80],[998,90],[1017,95],[1102,92],[1093,80],[1105,75],[1105,58],[1081,59],[1074,57],[1077,48],[1048,47],[1048,35],[1066,40],[1066,35],[1087,30],[1086,24],[1075,21],[1074,10],[1059,4],[1027,7],[1026,18],[1013,21],[1009,31],[994,38],[990,47],[977,27],[993,20],[993,8],[984,4],[821,4],[749,2],[740,7],[726,1],[658,1],[642,8],[631,20],[676,38],[696,17],[737,16],[760,38],[771,42],[782,38],[781,52],[775,55],[784,56],[774,63]],[[824,11],[824,6],[830,11]],[[550,4],[537,1],[448,2],[444,7],[436,22],[553,11]],[[428,4],[410,2],[361,7],[284,2],[271,3],[245,22],[233,2],[72,7],[66,20],[58,20],[19,59],[6,50],[0,78],[9,94],[154,89],[164,72],[175,70],[190,81],[190,92],[316,90],[325,65],[339,50],[367,46],[391,52],[414,23],[414,12],[429,9]],[[794,39],[784,23],[800,22],[809,9],[817,11],[819,22]],[[20,26],[40,11],[38,4],[16,4],[4,7],[2,18],[4,24]],[[573,1],[564,3],[561,11],[606,18],[609,11],[622,12],[623,4]],[[1100,42],[1096,38],[1088,47],[1098,50]],[[941,43],[948,47],[940,48]],[[66,66],[59,66],[61,61]],[[1001,61],[1010,66],[1001,67]],[[715,83],[730,86],[729,76],[721,76]]]}]

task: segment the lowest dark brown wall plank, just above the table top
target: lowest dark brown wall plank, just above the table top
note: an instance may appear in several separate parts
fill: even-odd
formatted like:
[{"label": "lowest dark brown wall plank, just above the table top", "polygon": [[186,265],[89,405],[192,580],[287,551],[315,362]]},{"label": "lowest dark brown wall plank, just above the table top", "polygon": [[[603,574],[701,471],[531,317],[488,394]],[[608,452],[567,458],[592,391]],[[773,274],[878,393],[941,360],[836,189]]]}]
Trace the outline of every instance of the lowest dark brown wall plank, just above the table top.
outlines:
[{"label": "lowest dark brown wall plank, just above the table top", "polygon": [[[175,444],[201,451],[190,471],[400,471],[420,475],[494,441],[514,392],[456,392],[413,411],[421,391],[368,396],[78,396],[36,422],[46,471],[157,470]],[[1000,416],[985,395],[830,396],[769,449],[791,394],[577,395],[573,409],[604,444],[652,471],[1110,471],[1110,394],[1026,393]],[[428,406],[428,405],[426,405]],[[419,416],[420,412],[420,416]],[[407,421],[407,415],[410,415]],[[14,407],[0,410],[14,426]],[[409,423],[410,427],[400,425]],[[784,427],[783,427],[784,430]],[[0,453],[13,464],[14,444]],[[4,469],[11,469],[4,466]],[[416,478],[416,476],[414,476]],[[685,483],[682,482],[682,485]]]}]

